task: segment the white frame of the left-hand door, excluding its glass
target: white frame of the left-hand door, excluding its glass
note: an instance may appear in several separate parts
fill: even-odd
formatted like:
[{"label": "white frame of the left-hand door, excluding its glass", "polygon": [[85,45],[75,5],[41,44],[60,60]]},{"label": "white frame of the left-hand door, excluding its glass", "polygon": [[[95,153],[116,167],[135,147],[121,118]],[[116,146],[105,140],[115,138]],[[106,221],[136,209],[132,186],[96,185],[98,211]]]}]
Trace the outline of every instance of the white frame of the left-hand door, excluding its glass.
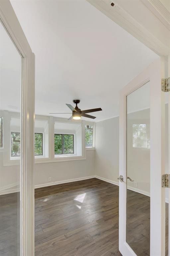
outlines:
[{"label": "white frame of the left-hand door, excluding its glass", "polygon": [[9,0],[0,1],[0,20],[22,55],[20,254],[34,256],[35,55]]}]

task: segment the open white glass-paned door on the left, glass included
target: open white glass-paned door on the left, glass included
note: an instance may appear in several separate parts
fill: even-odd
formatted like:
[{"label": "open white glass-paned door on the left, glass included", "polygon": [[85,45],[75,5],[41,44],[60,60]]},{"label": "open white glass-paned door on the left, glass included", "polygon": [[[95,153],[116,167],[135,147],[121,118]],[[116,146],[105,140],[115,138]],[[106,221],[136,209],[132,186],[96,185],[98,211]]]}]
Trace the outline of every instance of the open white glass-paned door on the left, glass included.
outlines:
[{"label": "open white glass-paned door on the left, glass included", "polygon": [[0,1],[0,255],[34,256],[35,55]]}]

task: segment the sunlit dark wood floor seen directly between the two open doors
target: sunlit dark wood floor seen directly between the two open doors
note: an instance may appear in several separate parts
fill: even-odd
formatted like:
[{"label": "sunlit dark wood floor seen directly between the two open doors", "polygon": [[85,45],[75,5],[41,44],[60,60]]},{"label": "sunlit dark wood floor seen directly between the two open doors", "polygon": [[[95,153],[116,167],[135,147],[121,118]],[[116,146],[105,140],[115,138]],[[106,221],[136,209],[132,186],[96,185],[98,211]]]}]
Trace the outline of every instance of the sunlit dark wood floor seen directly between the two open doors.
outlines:
[{"label": "sunlit dark wood floor seen directly between the two open doors", "polygon": [[109,256],[118,250],[118,187],[98,179],[36,189],[36,256]]}]

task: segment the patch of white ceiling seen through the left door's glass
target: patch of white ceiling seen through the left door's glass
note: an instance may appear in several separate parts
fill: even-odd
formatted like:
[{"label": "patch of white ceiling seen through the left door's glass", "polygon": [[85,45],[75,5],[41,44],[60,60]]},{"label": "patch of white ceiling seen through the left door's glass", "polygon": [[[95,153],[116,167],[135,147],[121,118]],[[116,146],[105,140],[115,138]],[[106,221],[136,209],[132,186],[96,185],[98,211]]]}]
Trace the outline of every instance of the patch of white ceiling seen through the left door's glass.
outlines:
[{"label": "patch of white ceiling seen through the left door's glass", "polygon": [[20,111],[22,58],[0,23],[0,109]]}]

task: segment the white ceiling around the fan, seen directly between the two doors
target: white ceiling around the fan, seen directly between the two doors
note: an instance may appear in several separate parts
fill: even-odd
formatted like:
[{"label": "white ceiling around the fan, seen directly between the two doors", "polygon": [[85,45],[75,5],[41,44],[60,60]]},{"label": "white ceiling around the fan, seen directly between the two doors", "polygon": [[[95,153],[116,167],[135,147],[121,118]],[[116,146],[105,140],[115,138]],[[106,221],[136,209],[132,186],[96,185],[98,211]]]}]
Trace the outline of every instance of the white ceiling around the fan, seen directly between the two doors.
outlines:
[{"label": "white ceiling around the fan, seen directly between the two doors", "polygon": [[103,109],[95,121],[117,116],[119,90],[158,58],[85,0],[11,4],[36,56],[36,114],[71,113],[65,103],[80,99]]}]

